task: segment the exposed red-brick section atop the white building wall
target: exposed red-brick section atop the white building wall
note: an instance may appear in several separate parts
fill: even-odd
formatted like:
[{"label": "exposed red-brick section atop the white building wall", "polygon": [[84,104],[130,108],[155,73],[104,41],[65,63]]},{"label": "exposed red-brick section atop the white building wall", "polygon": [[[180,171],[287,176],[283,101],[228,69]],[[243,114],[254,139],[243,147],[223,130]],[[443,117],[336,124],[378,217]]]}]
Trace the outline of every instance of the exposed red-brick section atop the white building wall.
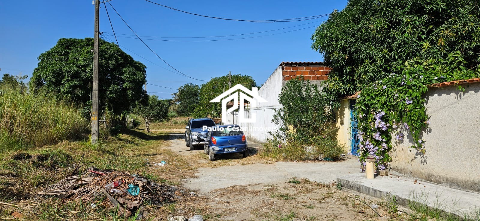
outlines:
[{"label": "exposed red-brick section atop the white building wall", "polygon": [[305,80],[326,80],[331,70],[328,66],[283,66],[282,79],[286,81],[302,75]]}]

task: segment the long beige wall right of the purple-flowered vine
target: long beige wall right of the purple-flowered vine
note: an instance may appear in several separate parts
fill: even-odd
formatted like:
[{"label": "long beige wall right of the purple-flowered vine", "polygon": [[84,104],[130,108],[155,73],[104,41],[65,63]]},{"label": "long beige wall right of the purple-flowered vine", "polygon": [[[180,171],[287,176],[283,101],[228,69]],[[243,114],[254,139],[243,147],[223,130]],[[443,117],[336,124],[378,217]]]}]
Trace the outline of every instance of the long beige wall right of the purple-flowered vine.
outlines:
[{"label": "long beige wall right of the purple-flowered vine", "polygon": [[[480,83],[431,88],[426,94],[430,129],[425,155],[411,146],[411,136],[392,150],[391,171],[453,188],[480,192]],[[404,129],[403,129],[404,130]]]}]

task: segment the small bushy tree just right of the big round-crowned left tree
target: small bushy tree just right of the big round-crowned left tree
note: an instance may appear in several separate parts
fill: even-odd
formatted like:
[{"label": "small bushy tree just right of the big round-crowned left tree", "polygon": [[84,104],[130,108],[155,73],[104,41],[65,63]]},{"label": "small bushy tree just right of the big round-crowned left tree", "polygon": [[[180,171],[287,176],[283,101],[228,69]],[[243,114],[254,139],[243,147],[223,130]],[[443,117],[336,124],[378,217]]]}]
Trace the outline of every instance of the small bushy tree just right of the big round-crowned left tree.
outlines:
[{"label": "small bushy tree just right of the big round-crowned left tree", "polygon": [[169,105],[170,100],[160,100],[156,95],[149,95],[147,104],[138,105],[133,111],[145,119],[145,131],[150,132],[150,123],[167,119]]}]

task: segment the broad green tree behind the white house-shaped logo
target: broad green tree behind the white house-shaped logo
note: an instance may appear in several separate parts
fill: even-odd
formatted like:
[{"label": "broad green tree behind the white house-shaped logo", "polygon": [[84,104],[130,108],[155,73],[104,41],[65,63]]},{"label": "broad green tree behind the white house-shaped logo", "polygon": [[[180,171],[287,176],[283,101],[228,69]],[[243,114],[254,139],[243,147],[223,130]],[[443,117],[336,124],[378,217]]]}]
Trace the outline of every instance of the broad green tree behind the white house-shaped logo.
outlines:
[{"label": "broad green tree behind the white house-shaped logo", "polygon": [[[256,87],[255,80],[248,75],[232,75],[232,87],[241,84],[246,88]],[[228,89],[228,75],[222,77],[214,77],[207,83],[202,84],[200,88],[200,103],[193,111],[193,117],[203,118],[208,115],[212,117],[220,117],[222,112],[220,103],[211,103],[210,100],[223,93],[224,83],[226,90]]]}]

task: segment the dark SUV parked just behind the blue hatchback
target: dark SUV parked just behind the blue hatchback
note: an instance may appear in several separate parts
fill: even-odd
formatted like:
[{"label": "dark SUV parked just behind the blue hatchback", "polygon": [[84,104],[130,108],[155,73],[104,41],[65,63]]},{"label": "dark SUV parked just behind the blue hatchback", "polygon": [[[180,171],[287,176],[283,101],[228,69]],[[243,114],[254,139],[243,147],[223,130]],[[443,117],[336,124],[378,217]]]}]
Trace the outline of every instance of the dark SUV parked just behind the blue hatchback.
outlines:
[{"label": "dark SUV parked just behind the blue hatchback", "polygon": [[196,145],[204,145],[204,135],[208,130],[204,130],[204,126],[215,126],[215,122],[209,118],[190,119],[185,127],[185,144],[190,146],[190,150],[195,150]]}]

